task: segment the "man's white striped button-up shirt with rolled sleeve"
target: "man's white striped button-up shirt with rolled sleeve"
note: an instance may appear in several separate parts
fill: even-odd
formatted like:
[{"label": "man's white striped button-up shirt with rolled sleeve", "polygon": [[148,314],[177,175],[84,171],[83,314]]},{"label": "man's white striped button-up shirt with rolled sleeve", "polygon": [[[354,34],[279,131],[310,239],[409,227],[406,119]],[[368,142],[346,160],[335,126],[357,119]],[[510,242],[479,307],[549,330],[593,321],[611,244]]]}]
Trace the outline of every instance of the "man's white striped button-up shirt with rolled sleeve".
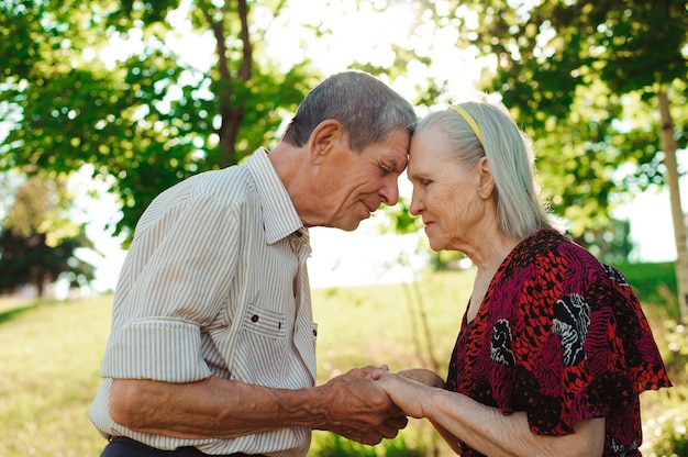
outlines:
[{"label": "man's white striped button-up shirt with rolled sleeve", "polygon": [[314,386],[310,253],[308,230],[265,149],[160,193],[136,225],[118,281],[104,379],[90,410],[97,428],[160,449],[306,455],[308,428],[178,439],[114,423],[108,400],[111,378],[193,382],[214,375],[271,388]]}]

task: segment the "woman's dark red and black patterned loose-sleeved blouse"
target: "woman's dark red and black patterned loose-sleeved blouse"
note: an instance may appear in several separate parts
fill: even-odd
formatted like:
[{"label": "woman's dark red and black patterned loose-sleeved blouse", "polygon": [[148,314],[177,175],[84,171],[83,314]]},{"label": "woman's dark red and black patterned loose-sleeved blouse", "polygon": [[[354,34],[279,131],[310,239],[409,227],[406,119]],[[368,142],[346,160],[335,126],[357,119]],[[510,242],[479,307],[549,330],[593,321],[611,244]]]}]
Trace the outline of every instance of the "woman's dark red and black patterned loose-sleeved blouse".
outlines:
[{"label": "woman's dark red and black patterned loose-sleeved blouse", "polygon": [[604,456],[641,455],[639,394],[669,386],[623,275],[551,230],[519,244],[477,316],[464,315],[447,376],[447,390],[503,414],[524,411],[536,434],[604,416]]}]

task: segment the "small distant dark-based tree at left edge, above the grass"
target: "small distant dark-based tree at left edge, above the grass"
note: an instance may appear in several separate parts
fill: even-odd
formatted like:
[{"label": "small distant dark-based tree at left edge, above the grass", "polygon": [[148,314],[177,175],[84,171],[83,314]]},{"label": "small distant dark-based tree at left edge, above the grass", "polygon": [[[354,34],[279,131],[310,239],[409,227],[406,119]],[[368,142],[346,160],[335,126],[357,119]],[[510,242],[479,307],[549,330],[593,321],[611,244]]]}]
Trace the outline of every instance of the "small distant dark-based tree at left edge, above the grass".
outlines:
[{"label": "small distant dark-based tree at left edge, above the grass", "polygon": [[45,287],[58,278],[70,287],[93,279],[95,268],[77,255],[93,246],[84,227],[68,219],[69,202],[60,181],[33,178],[16,190],[0,230],[0,293],[31,285],[43,297]]}]

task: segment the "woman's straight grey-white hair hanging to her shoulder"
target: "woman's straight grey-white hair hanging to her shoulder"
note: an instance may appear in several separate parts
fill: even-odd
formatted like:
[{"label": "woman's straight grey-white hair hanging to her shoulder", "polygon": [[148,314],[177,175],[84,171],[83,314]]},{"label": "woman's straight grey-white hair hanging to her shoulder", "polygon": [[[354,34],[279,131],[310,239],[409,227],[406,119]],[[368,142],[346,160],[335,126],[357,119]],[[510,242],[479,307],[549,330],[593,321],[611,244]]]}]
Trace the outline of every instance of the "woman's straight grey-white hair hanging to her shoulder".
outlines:
[{"label": "woman's straight grey-white hair hanging to her shoulder", "polygon": [[523,239],[542,228],[563,231],[562,221],[548,213],[540,199],[532,141],[504,105],[491,101],[467,101],[458,105],[475,120],[482,142],[469,121],[452,108],[425,116],[415,132],[436,125],[447,135],[450,148],[466,167],[487,157],[495,179],[499,230],[504,235]]}]

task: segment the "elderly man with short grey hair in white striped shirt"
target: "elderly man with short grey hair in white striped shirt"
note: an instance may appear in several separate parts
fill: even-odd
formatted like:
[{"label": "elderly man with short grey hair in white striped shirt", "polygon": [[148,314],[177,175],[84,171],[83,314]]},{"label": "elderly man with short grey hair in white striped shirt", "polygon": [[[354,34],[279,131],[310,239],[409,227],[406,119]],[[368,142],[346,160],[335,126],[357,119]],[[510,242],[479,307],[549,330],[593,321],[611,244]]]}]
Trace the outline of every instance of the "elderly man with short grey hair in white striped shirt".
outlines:
[{"label": "elderly man with short grey hair in white striped shirt", "polygon": [[415,114],[333,75],[280,143],[159,194],[135,230],[90,417],[102,456],[303,456],[311,430],[365,444],[407,419],[353,369],[315,387],[309,227],[355,230],[398,199]]}]

